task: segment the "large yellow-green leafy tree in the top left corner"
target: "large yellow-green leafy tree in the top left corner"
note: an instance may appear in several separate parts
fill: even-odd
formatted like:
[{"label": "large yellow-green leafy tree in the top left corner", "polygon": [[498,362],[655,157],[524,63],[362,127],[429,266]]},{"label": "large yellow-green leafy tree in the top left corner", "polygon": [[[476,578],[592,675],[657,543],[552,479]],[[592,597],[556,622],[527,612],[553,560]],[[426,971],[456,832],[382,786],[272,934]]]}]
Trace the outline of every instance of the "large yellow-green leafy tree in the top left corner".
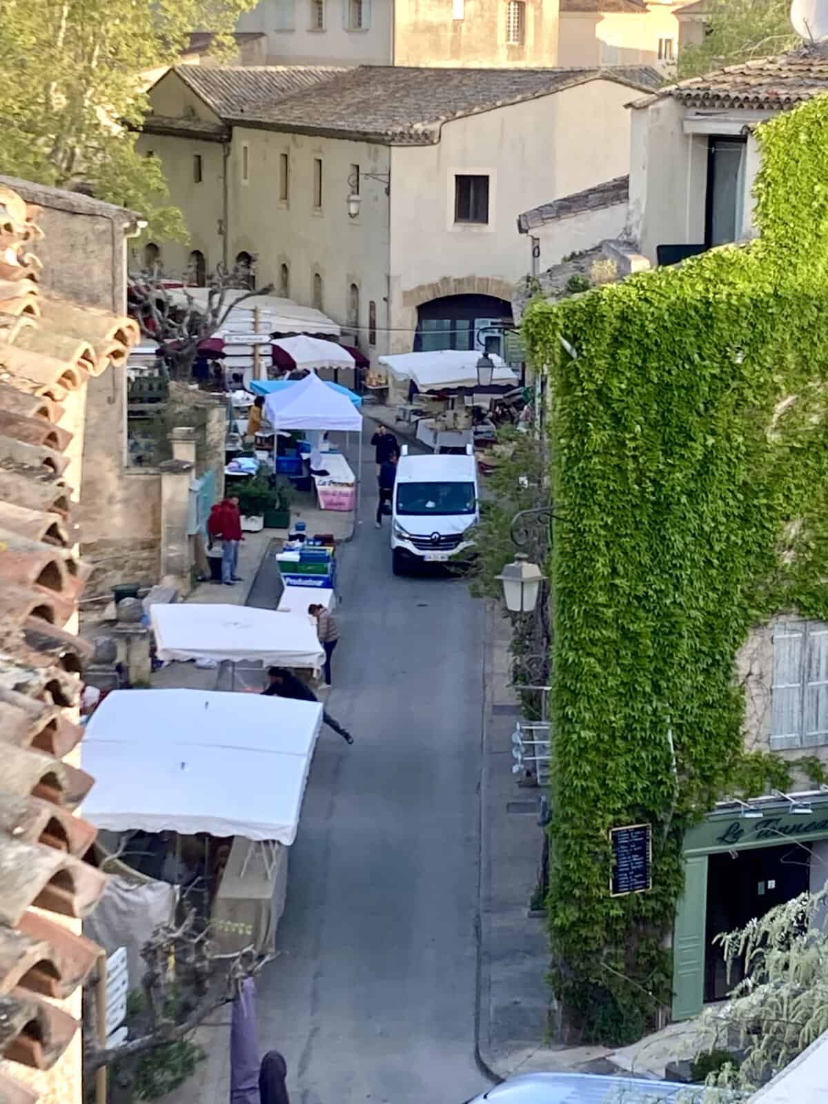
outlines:
[{"label": "large yellow-green leafy tree in the top left corner", "polygon": [[255,0],[8,0],[0,20],[0,172],[137,210],[159,237],[185,238],[157,158],[135,148],[148,74],[189,34],[226,49]]}]

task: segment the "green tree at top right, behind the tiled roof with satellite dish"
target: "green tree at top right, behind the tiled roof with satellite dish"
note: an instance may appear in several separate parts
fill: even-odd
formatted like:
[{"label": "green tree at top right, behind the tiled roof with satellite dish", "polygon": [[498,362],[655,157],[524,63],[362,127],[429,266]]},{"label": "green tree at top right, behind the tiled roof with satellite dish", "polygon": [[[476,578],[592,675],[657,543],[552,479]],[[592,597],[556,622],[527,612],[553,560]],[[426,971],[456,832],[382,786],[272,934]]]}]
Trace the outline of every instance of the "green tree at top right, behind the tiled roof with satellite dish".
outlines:
[{"label": "green tree at top right, behind the tiled roof with satellite dish", "polygon": [[788,0],[708,0],[707,36],[679,52],[679,79],[790,50],[800,40]]}]

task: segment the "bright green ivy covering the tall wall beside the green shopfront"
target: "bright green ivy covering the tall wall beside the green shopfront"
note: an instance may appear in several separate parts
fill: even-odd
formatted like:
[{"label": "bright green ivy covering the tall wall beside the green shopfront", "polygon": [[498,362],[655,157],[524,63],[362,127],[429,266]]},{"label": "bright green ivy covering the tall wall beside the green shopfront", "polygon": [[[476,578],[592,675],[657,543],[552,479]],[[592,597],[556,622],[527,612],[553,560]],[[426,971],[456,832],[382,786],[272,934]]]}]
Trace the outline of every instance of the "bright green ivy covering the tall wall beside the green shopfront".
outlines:
[{"label": "bright green ivy covering the tall wall beside the green shopfront", "polygon": [[[537,301],[523,326],[566,519],[549,565],[552,981],[607,1042],[670,1002],[684,829],[784,784],[743,751],[740,647],[777,612],[828,617],[828,98],[757,138],[760,240]],[[640,821],[652,890],[612,899],[607,830]]]}]

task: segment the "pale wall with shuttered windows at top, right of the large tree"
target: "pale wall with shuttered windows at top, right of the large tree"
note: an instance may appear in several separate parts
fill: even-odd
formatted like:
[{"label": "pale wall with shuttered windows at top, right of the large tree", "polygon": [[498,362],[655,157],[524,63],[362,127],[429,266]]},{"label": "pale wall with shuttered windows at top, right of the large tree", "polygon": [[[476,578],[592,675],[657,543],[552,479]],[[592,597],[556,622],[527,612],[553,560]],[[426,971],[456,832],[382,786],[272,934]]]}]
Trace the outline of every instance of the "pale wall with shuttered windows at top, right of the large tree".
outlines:
[{"label": "pale wall with shuttered windows at top, right of the large tree", "polygon": [[[348,0],[325,0],[325,30],[310,30],[311,0],[261,0],[238,21],[238,31],[267,35],[268,65],[388,65],[391,62],[393,0],[373,0],[364,31],[349,31],[342,17]],[[293,18],[286,12],[293,11]],[[293,22],[293,29],[285,28]]]}]

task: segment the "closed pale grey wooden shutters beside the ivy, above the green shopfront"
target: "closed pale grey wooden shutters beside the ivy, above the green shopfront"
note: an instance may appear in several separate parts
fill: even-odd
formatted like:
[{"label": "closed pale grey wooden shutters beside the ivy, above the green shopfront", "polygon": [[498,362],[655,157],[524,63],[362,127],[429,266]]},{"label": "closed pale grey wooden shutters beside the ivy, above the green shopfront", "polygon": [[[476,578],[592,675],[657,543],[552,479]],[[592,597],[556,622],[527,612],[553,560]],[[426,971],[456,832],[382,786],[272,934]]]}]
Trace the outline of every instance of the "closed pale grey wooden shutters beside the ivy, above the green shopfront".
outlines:
[{"label": "closed pale grey wooden shutters beside the ivy, above the green shopfront", "polygon": [[828,743],[828,625],[777,625],[773,651],[772,751]]}]

